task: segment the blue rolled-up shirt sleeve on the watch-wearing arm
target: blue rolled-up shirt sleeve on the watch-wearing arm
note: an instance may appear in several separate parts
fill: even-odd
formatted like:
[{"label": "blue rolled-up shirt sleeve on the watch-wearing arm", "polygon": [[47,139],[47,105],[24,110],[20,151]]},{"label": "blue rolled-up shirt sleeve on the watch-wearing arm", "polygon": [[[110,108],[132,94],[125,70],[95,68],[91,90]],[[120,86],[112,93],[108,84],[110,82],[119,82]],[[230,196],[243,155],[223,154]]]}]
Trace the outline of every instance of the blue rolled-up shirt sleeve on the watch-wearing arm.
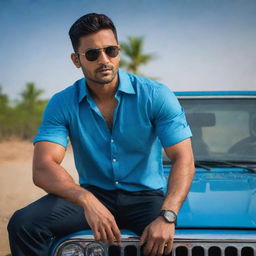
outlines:
[{"label": "blue rolled-up shirt sleeve on the watch-wearing arm", "polygon": [[156,132],[163,147],[192,136],[183,108],[174,93],[164,85],[155,90],[153,113]]}]

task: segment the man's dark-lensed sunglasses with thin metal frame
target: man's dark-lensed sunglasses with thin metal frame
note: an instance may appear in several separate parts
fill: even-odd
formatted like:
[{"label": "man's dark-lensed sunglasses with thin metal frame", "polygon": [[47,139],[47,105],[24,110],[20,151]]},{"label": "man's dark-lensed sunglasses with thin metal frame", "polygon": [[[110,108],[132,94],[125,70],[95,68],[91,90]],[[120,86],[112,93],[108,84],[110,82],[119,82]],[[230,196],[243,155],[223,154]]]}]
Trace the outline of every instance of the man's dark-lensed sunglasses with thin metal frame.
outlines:
[{"label": "man's dark-lensed sunglasses with thin metal frame", "polygon": [[93,48],[87,50],[85,53],[77,52],[77,54],[85,56],[88,61],[95,61],[99,58],[101,50],[103,50],[108,57],[115,58],[119,54],[120,46],[110,45],[103,48]]}]

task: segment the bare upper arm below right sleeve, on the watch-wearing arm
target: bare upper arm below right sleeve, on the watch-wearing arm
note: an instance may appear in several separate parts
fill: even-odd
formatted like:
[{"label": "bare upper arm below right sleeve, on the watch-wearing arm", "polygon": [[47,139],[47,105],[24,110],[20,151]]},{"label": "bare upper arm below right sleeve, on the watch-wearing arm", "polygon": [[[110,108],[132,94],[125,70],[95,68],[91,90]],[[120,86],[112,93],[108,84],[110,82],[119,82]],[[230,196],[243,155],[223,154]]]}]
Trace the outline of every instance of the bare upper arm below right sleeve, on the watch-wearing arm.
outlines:
[{"label": "bare upper arm below right sleeve, on the watch-wearing arm", "polygon": [[167,157],[172,161],[175,161],[178,158],[187,159],[188,161],[194,160],[190,138],[187,138],[175,145],[165,147],[164,151]]}]

